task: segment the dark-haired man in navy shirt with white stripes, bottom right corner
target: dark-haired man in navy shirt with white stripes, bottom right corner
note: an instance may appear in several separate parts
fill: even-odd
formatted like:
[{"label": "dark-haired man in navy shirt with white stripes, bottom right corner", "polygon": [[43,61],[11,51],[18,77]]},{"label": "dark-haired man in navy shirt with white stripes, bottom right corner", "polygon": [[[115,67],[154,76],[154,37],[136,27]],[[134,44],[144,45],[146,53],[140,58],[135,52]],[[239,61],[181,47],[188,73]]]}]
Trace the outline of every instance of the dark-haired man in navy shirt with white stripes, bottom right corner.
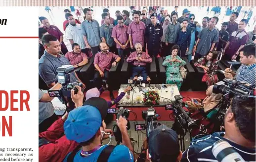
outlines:
[{"label": "dark-haired man in navy shirt with white stripes, bottom right corner", "polygon": [[215,162],[211,148],[218,140],[228,142],[246,162],[255,162],[255,102],[255,96],[233,97],[225,114],[225,132],[196,136],[183,153],[181,162]]}]

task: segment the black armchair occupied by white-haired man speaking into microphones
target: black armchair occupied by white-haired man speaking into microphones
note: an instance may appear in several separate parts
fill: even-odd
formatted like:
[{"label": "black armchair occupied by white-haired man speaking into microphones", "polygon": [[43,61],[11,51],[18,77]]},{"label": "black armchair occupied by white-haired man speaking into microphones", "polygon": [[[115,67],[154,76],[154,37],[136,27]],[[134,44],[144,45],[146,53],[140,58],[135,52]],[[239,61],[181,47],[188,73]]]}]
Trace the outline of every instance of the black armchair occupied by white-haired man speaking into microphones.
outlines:
[{"label": "black armchair occupied by white-haired man speaking into microphones", "polygon": [[[156,59],[152,57],[152,63],[146,64],[147,74],[150,77],[150,83],[157,83],[157,67],[156,67]],[[132,75],[132,63],[128,63],[126,60],[123,63],[121,68],[121,83],[128,84],[128,79]]]}]

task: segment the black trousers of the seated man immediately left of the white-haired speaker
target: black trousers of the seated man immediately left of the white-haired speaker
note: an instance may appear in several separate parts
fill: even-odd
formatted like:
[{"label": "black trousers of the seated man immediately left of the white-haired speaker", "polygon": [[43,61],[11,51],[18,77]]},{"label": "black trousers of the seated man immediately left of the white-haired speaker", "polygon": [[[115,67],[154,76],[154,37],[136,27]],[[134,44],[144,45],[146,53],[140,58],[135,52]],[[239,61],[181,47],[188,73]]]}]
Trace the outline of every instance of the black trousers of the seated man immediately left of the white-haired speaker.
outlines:
[{"label": "black trousers of the seated man immediately left of the white-haired speaker", "polygon": [[99,89],[101,87],[101,85],[103,84],[102,80],[105,80],[108,83],[108,91],[110,93],[110,96],[114,96],[113,89],[111,87],[111,83],[108,80],[109,79],[109,71],[105,69],[103,73],[104,73],[104,77],[101,77],[99,74],[99,71],[95,72],[95,74],[94,74],[95,87],[97,87]]}]

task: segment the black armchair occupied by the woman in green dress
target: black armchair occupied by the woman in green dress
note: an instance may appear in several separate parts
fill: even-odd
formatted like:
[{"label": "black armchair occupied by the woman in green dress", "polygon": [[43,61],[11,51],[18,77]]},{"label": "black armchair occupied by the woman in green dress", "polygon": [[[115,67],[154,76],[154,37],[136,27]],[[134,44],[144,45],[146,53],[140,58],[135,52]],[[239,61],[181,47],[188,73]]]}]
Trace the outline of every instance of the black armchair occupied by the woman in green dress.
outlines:
[{"label": "black armchair occupied by the woman in green dress", "polygon": [[[158,58],[158,63],[159,63],[158,81],[160,81],[160,83],[166,82],[166,68],[163,66],[163,62],[165,61],[165,59],[166,59],[166,57]],[[185,69],[187,69],[187,76],[186,76],[186,79],[183,79],[183,83],[182,83],[180,90],[188,90],[191,86],[190,84],[191,84],[191,80],[193,79],[195,70],[191,66],[191,64],[189,63],[189,61],[186,57],[182,57],[182,60],[184,60],[186,62],[186,65],[184,67],[185,67]]]}]

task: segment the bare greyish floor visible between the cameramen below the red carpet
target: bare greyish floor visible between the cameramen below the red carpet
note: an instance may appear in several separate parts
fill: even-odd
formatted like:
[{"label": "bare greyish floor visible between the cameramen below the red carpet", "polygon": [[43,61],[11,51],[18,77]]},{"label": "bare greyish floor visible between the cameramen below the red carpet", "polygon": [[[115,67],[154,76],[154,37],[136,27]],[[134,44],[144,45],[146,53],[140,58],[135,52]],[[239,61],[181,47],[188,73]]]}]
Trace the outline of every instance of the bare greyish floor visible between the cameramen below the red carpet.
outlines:
[{"label": "bare greyish floor visible between the cameramen below the red carpet", "polygon": [[[138,123],[140,124],[140,123],[144,123],[144,122],[138,122]],[[174,122],[161,121],[159,123],[165,124],[165,125],[167,125],[168,127],[171,128],[171,126]],[[114,124],[116,124],[116,122],[110,122],[109,124],[107,124],[106,128],[107,129],[112,129],[112,126]],[[146,138],[146,130],[144,130],[144,131],[135,131],[134,130],[134,123],[131,121],[130,122],[130,129],[128,130],[128,134],[129,134],[130,138],[133,138],[133,140],[134,140],[134,141],[131,141],[132,145],[134,146],[134,151],[137,152],[137,153],[140,153],[141,147],[143,145],[143,140]],[[109,139],[104,140],[103,144],[107,144],[108,142],[109,142]],[[111,145],[116,145],[117,144],[117,142],[115,141],[114,136],[112,137],[112,140],[111,140],[110,144]],[[186,149],[188,148],[189,144],[190,144],[190,138],[189,138],[189,135],[187,134],[185,136],[185,148]]]}]

